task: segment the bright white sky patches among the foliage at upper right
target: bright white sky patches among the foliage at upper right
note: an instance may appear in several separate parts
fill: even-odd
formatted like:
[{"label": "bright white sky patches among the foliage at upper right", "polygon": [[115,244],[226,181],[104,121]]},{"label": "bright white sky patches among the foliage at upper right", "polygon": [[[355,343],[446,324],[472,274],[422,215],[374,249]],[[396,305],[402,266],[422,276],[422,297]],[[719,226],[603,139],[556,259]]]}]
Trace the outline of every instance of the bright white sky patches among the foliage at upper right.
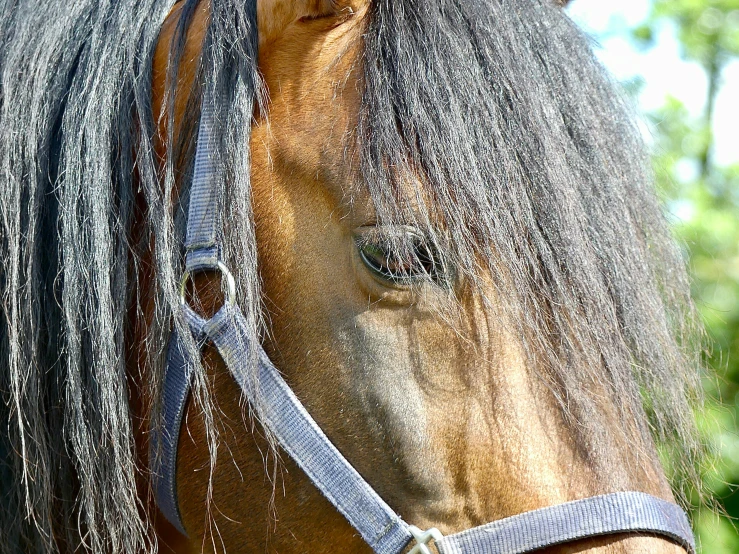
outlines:
[{"label": "bright white sky patches among the foliage at upper right", "polygon": [[[624,36],[627,28],[646,19],[649,4],[647,0],[573,0],[568,12],[596,38],[596,54],[616,78],[628,80],[641,76],[644,79],[639,97],[642,111],[659,108],[672,95],[697,116],[706,102],[706,76],[696,63],[680,59],[674,28],[660,29],[654,48],[646,52],[636,49]],[[648,135],[649,131],[646,132]],[[716,99],[714,136],[716,163],[739,162],[739,61],[736,60],[724,70]]]}]

